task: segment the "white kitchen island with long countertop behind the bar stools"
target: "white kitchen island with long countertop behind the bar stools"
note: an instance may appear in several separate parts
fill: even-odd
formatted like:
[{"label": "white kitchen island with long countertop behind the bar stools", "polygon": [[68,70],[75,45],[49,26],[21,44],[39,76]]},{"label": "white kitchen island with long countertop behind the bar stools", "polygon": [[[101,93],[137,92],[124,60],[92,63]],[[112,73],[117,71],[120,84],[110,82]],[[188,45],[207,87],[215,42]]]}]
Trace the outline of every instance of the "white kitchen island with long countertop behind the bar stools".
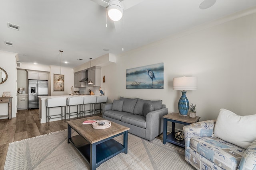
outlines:
[{"label": "white kitchen island with long countertop behind the bar stools", "polygon": [[[85,94],[85,95],[66,95],[66,96],[38,96],[39,98],[39,118],[40,118],[40,123],[46,123],[46,100],[50,99],[50,98],[84,98],[84,97],[89,97],[91,96],[90,94]],[[93,96],[100,96],[100,95],[93,95]],[[51,113],[53,113],[54,111],[56,111],[56,113],[60,113],[61,112],[61,108],[60,107],[54,107],[54,108],[50,108]],[[70,107],[70,111],[76,111],[76,106],[71,106]],[[63,113],[64,114],[64,113]],[[88,113],[89,114],[89,113]],[[72,117],[76,117],[76,115],[71,116]],[[56,118],[56,119],[51,119],[50,121],[57,121],[57,120],[61,120],[60,118]]]}]

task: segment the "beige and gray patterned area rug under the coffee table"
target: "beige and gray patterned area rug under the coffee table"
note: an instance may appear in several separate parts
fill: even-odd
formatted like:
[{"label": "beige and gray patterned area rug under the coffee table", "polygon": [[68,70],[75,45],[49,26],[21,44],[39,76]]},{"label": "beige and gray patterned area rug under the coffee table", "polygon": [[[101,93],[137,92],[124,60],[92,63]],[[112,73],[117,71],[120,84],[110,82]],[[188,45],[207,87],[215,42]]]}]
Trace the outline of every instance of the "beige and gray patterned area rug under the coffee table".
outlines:
[{"label": "beige and gray patterned area rug under the coffee table", "polygon": [[[72,135],[75,135],[74,133]],[[116,137],[122,141],[123,136]],[[87,162],[71,143],[67,130],[9,144],[5,170],[88,170]],[[128,133],[128,154],[120,153],[97,170],[194,170],[184,160],[184,149],[159,139],[147,141]]]}]

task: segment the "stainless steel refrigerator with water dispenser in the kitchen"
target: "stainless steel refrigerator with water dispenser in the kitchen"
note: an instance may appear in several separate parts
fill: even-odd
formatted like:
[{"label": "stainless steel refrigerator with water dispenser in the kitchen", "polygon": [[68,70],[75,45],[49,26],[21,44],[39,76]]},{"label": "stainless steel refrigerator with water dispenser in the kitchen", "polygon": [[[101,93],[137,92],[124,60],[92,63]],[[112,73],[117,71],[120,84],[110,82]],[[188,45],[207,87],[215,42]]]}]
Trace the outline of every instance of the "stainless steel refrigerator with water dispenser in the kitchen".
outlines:
[{"label": "stainless steel refrigerator with water dispenser in the kitchen", "polygon": [[28,109],[39,108],[38,96],[48,96],[48,81],[28,80]]}]

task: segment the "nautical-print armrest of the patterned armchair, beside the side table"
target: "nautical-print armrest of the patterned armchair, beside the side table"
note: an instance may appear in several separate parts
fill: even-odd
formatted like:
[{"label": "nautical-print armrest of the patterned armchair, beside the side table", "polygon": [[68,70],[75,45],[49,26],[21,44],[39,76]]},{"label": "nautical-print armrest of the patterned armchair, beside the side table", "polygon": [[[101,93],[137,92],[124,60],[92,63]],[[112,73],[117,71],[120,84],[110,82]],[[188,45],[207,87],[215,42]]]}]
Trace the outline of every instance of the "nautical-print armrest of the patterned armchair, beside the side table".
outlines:
[{"label": "nautical-print armrest of the patterned armchair, beside the side table", "polygon": [[192,123],[183,127],[185,150],[190,150],[190,139],[192,137],[210,137],[213,135],[213,129],[216,120],[207,120]]}]

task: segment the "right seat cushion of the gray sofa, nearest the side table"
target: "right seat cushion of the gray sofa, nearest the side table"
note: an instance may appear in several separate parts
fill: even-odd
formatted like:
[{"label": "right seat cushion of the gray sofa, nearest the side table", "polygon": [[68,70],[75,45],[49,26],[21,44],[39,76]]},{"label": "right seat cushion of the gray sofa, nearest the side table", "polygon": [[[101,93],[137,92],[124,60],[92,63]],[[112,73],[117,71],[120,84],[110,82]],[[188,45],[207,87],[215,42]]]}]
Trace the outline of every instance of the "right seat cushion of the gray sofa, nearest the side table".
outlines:
[{"label": "right seat cushion of the gray sofa, nearest the side table", "polygon": [[122,116],[121,121],[134,126],[146,128],[146,117],[142,115],[124,115]]}]

